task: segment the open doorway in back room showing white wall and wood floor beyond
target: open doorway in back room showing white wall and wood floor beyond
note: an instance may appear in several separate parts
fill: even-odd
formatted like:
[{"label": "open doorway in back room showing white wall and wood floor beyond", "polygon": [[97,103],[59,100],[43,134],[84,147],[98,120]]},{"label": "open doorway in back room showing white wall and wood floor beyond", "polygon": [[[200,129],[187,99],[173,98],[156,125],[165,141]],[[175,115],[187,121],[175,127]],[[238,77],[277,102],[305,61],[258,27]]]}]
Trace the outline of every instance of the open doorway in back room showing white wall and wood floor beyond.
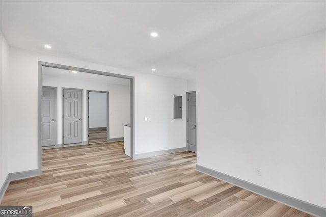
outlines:
[{"label": "open doorway in back room showing white wall and wood floor beyond", "polygon": [[109,93],[87,91],[87,143],[110,141]]}]

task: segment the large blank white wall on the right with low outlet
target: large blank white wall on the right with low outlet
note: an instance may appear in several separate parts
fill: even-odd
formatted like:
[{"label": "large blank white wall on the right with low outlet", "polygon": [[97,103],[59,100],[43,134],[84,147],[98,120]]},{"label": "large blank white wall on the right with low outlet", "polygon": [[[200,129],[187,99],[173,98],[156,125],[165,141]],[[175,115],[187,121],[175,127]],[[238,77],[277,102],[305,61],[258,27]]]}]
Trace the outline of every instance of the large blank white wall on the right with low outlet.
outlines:
[{"label": "large blank white wall on the right with low outlet", "polygon": [[326,207],[325,72],[325,32],[199,66],[197,164]]}]

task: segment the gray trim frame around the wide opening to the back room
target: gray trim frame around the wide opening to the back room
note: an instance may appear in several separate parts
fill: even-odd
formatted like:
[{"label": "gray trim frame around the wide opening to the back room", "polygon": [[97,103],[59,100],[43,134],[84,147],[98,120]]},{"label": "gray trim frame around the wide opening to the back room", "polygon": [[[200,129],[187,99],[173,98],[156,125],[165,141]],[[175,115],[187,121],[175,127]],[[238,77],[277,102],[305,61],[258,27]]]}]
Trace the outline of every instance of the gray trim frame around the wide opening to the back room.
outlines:
[{"label": "gray trim frame around the wide opening to the back room", "polygon": [[[91,69],[84,69],[78,68],[73,66],[65,66],[55,63],[47,63],[38,61],[38,100],[37,100],[37,108],[38,108],[38,124],[37,124],[37,144],[38,144],[38,158],[37,158],[37,170],[38,175],[42,174],[42,145],[41,145],[41,109],[42,109],[42,67],[52,67],[52,68],[59,68],[59,69],[66,69],[66,70],[75,70],[78,72],[85,72],[91,74],[99,74],[105,76],[112,76],[112,77],[120,77],[130,79],[130,157],[134,159],[134,77],[122,74],[115,74],[110,72],[103,72],[103,71],[96,71]],[[70,73],[70,72],[69,72]]]}]

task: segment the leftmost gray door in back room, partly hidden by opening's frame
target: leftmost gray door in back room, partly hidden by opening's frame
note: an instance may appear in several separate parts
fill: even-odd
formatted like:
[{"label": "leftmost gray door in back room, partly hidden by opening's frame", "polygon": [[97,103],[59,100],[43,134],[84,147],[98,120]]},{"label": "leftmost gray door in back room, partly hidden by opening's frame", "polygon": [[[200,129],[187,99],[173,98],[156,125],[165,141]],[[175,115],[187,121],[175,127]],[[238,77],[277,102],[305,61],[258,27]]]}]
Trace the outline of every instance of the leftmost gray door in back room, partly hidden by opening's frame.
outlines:
[{"label": "leftmost gray door in back room, partly hidden by opening's frame", "polygon": [[42,147],[56,146],[56,89],[42,87]]}]

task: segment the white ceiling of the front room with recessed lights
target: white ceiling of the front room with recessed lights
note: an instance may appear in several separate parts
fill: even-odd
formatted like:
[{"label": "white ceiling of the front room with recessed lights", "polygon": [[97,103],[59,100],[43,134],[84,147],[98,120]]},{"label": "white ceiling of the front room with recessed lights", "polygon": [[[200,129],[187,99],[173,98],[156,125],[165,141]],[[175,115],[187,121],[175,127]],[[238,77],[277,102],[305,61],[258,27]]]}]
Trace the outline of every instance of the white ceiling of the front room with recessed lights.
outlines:
[{"label": "white ceiling of the front room with recessed lights", "polygon": [[[187,79],[195,77],[199,64],[325,30],[326,25],[325,1],[0,4],[0,28],[11,46]],[[150,36],[153,31],[157,38]]]}]

